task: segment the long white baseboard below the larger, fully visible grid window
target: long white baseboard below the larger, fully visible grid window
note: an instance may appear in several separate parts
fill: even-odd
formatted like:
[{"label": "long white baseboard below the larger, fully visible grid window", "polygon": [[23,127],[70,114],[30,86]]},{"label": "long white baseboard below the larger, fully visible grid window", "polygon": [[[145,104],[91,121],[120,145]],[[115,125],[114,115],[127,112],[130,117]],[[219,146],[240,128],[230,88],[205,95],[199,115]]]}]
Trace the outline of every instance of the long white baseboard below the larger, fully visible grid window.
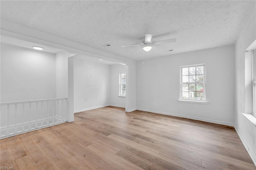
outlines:
[{"label": "long white baseboard below the larger, fully visible grid window", "polygon": [[187,119],[194,119],[194,120],[199,120],[199,121],[206,121],[206,122],[210,122],[210,123],[216,123],[216,124],[220,124],[220,125],[228,125],[228,126],[234,127],[234,123],[230,123],[230,122],[226,122],[226,121],[204,119],[204,118],[200,118],[200,117],[180,115],[180,114],[175,114],[175,113],[168,113],[168,112],[164,112],[164,111],[156,111],[156,110],[142,109],[142,108],[138,108],[137,110],[148,111],[148,112],[152,112],[152,113],[159,113],[159,114],[170,115],[170,116],[176,116],[176,117],[182,117],[182,118],[187,118]]}]

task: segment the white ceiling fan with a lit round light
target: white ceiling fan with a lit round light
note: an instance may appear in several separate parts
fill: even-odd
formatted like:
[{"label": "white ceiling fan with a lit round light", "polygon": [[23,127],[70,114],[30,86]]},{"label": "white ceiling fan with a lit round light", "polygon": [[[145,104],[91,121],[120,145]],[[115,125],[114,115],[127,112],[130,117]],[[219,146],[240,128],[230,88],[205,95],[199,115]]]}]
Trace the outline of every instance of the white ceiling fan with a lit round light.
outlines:
[{"label": "white ceiling fan with a lit round light", "polygon": [[[141,45],[122,45],[121,47],[142,47],[140,49],[143,49],[144,51],[150,51],[154,45],[174,43],[174,42],[176,42],[176,38],[154,42],[152,39],[152,34],[146,34],[145,37],[141,38],[141,41],[142,41]],[[138,51],[140,49],[138,49]],[[135,51],[134,53],[136,53],[136,52],[137,51]]]}]

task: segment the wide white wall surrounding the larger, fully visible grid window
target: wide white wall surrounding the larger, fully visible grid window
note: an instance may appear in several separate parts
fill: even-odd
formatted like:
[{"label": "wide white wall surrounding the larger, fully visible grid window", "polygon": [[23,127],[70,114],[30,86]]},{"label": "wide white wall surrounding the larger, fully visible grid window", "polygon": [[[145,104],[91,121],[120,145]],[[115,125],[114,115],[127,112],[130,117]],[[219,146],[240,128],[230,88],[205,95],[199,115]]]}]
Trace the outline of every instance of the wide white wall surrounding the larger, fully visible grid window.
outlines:
[{"label": "wide white wall surrounding the larger, fully visible grid window", "polygon": [[[180,66],[206,64],[209,104],[178,102]],[[137,62],[137,108],[233,125],[234,45]]]}]

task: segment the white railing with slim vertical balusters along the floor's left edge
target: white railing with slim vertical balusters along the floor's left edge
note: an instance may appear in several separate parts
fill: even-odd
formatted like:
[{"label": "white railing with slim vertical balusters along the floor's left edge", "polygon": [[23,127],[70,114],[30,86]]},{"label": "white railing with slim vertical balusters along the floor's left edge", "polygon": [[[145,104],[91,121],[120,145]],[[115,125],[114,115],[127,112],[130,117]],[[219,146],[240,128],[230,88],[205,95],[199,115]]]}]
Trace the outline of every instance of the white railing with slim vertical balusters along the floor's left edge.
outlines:
[{"label": "white railing with slim vertical balusters along the floor's left edge", "polygon": [[67,98],[1,103],[0,109],[0,139],[68,120]]}]

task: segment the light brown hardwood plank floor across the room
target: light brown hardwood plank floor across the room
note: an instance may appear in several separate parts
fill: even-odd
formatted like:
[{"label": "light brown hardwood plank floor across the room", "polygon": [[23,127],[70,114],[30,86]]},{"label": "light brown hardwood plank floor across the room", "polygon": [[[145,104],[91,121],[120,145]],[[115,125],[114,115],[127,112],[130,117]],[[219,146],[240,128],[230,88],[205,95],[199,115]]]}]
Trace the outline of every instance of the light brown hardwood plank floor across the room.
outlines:
[{"label": "light brown hardwood plank floor across the room", "polygon": [[15,170],[256,170],[232,127],[119,107],[0,140]]}]

